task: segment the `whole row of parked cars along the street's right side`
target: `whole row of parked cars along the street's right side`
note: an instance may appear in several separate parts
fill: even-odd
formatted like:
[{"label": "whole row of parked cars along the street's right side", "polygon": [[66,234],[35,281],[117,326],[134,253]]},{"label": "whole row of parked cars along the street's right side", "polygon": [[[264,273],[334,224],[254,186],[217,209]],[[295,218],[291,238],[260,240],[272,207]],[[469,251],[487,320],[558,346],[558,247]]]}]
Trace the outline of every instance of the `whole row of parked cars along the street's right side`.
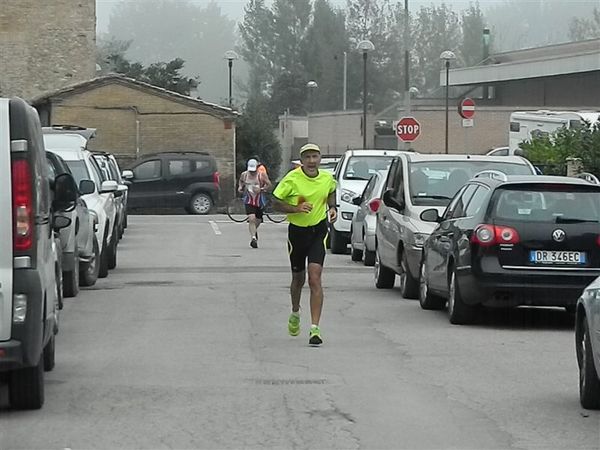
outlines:
[{"label": "whole row of parked cars along the street's right side", "polygon": [[398,276],[404,298],[446,308],[453,324],[482,307],[576,313],[581,404],[600,408],[596,177],[537,175],[520,156],[401,152],[347,200],[351,258],[374,265],[379,289]]}]

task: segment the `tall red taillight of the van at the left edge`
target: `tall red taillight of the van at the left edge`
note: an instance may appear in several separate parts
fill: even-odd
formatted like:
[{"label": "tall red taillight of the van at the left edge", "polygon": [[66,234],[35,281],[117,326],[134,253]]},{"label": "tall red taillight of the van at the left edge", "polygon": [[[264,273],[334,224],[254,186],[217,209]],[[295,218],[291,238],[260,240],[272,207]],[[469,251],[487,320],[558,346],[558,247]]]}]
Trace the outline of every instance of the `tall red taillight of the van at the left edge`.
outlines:
[{"label": "tall red taillight of the van at the left edge", "polygon": [[13,245],[18,251],[29,250],[33,233],[33,192],[31,169],[26,159],[12,163]]}]

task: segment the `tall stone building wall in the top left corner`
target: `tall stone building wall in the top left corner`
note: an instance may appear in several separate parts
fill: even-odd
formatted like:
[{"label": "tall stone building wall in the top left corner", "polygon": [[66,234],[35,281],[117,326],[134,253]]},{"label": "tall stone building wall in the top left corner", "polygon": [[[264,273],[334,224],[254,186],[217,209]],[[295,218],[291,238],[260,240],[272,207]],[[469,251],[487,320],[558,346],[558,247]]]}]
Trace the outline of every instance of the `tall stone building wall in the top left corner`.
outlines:
[{"label": "tall stone building wall in the top left corner", "polygon": [[0,95],[31,99],[93,78],[95,0],[0,0]]}]

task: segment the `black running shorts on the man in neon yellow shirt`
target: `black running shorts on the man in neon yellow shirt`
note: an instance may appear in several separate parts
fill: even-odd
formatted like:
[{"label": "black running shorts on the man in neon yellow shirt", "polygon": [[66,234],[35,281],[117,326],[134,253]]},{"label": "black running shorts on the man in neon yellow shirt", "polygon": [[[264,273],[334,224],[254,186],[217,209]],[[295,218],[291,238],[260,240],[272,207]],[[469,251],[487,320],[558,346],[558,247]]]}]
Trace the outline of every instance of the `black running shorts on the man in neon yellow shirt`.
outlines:
[{"label": "black running shorts on the man in neon yellow shirt", "polygon": [[325,262],[325,239],[327,238],[327,221],[312,227],[299,227],[290,223],[288,228],[288,253],[292,272],[306,270],[308,263],[323,265]]}]

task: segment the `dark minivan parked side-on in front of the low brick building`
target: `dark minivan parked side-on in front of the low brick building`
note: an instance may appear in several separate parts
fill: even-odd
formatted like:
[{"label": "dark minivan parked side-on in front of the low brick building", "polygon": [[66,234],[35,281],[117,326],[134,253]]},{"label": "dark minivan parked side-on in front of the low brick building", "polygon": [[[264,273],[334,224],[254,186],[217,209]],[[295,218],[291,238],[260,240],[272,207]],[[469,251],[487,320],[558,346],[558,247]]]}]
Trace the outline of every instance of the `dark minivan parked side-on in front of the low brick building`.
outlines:
[{"label": "dark minivan parked side-on in front of the low brick building", "polygon": [[219,200],[217,161],[204,152],[165,152],[148,155],[131,170],[129,208],[185,208],[208,214]]}]

